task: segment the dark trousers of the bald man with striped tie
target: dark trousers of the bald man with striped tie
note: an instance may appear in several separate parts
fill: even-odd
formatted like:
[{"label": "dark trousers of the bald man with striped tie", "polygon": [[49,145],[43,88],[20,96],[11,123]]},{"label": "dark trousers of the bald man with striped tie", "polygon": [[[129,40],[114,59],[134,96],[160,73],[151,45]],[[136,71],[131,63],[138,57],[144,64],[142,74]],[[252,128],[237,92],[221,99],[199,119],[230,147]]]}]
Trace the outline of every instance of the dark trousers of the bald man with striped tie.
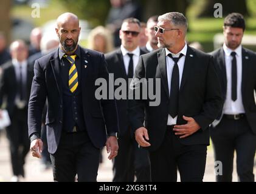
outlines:
[{"label": "dark trousers of the bald man with striped tie", "polygon": [[57,152],[50,155],[54,181],[97,181],[100,149],[92,145],[87,132],[61,133]]}]

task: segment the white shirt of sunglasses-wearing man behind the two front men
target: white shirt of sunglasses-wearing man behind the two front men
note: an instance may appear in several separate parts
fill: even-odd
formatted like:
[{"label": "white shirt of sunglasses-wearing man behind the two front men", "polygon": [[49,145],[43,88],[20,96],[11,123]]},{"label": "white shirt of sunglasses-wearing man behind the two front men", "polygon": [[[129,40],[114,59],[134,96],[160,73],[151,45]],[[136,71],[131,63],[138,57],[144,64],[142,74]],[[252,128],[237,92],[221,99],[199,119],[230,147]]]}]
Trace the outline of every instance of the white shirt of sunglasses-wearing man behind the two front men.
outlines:
[{"label": "white shirt of sunglasses-wearing man behind the two front men", "polygon": [[130,62],[130,56],[128,56],[127,54],[128,53],[133,53],[133,73],[134,73],[135,69],[136,69],[136,66],[138,64],[138,61],[139,61],[139,56],[140,56],[139,47],[134,49],[132,52],[129,52],[128,50],[125,49],[125,47],[123,47],[123,45],[121,45],[121,52],[122,52],[122,55],[123,55],[123,64],[125,64],[126,75],[128,75],[129,62]]}]

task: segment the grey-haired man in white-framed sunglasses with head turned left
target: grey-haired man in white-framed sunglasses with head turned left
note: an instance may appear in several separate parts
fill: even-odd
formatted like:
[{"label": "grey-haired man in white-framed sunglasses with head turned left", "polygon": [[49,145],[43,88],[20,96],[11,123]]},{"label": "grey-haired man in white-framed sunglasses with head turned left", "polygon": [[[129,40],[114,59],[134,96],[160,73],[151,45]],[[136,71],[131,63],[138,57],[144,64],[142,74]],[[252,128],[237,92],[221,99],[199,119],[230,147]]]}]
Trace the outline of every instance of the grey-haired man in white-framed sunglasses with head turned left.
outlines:
[{"label": "grey-haired man in white-framed sunglasses with head turned left", "polygon": [[140,56],[134,78],[160,78],[161,102],[129,101],[131,128],[139,145],[150,151],[152,181],[177,181],[178,167],[181,181],[200,182],[209,125],[223,104],[213,59],[187,45],[182,13],[159,16],[154,29],[161,49]]}]

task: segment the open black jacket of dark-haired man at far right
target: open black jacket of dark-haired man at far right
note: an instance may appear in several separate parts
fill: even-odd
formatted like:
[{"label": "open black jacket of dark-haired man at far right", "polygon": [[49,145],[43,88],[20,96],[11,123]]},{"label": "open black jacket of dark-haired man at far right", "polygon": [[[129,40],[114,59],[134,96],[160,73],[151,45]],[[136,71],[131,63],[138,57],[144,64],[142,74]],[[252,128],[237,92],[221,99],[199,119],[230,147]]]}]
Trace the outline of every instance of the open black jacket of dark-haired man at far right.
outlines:
[{"label": "open black jacket of dark-haired man at far right", "polygon": [[[215,50],[211,53],[214,59],[218,78],[221,82],[221,92],[223,99],[226,99],[227,93],[227,75],[225,54],[223,48]],[[256,54],[251,50],[242,48],[242,83],[241,94],[243,98],[243,106],[246,113],[247,121],[252,129],[252,132],[256,134],[256,105],[254,99],[254,91],[256,90]],[[213,126],[216,126],[223,116],[222,109],[218,114],[218,118],[213,122]]]}]

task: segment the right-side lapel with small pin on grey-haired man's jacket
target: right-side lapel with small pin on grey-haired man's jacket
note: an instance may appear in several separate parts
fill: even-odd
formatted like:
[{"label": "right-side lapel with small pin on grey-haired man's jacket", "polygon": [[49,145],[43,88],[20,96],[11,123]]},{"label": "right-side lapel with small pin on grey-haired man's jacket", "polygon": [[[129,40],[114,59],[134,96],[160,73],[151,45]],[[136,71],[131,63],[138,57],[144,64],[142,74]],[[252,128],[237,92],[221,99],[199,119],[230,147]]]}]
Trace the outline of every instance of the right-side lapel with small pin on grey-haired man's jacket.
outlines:
[{"label": "right-side lapel with small pin on grey-haired man's jacket", "polygon": [[188,45],[187,53],[185,56],[184,69],[182,72],[181,87],[179,90],[182,90],[182,88],[184,87],[185,81],[187,80],[187,76],[189,76],[189,73],[191,72],[190,69],[192,68],[194,61],[195,61],[195,52]]}]

